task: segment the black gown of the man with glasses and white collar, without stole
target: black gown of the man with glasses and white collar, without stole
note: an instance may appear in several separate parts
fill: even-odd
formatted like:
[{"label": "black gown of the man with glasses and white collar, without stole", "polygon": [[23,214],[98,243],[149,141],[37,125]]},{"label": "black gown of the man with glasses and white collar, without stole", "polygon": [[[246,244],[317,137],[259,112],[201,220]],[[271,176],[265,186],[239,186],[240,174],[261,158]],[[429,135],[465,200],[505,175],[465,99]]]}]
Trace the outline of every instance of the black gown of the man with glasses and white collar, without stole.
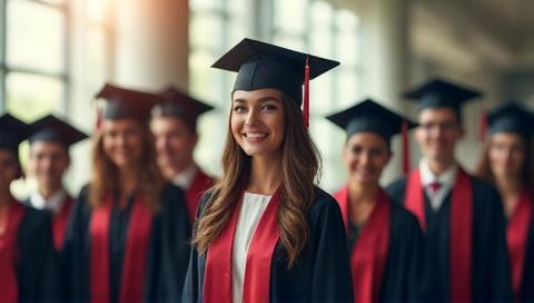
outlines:
[{"label": "black gown of the man with glasses and white collar, without stole", "polygon": [[[476,177],[473,186],[473,302],[511,302],[512,281],[505,240],[505,218],[496,188]],[[394,201],[404,203],[406,178],[386,190]],[[449,217],[452,190],[442,207],[434,212],[425,194],[427,266],[432,273],[431,299],[448,302],[451,297]]]}]

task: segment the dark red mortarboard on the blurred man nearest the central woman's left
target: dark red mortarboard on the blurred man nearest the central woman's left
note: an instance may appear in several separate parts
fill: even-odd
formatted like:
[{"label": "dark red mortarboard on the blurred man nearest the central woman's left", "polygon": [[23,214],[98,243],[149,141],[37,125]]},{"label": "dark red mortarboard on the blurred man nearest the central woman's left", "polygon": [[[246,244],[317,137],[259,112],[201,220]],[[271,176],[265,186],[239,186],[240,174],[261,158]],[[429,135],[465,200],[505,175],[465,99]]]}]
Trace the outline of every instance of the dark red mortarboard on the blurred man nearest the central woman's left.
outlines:
[{"label": "dark red mortarboard on the blurred man nearest the central woman's left", "polygon": [[155,105],[151,110],[152,118],[174,117],[186,121],[192,130],[197,128],[197,118],[204,113],[214,109],[188,94],[185,94],[172,86],[161,92],[162,101]]}]

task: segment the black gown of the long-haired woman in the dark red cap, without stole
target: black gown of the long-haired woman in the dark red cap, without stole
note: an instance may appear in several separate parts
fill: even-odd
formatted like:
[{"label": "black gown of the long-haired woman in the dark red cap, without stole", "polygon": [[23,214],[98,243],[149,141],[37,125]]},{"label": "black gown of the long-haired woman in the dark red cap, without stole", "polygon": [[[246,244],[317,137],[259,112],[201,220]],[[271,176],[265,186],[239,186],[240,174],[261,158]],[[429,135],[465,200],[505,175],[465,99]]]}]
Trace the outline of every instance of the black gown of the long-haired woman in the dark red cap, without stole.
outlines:
[{"label": "black gown of the long-haired woman in the dark red cap, without stole", "polygon": [[[90,241],[89,223],[91,207],[86,186],[75,204],[62,258],[67,263],[67,285],[69,300],[90,301]],[[125,254],[128,218],[131,201],[125,211],[113,208],[110,218],[110,299],[117,302]],[[181,287],[189,262],[190,223],[187,215],[184,192],[168,184],[161,194],[161,212],[152,217],[147,266],[145,273],[144,301],[177,302],[181,297]]]}]

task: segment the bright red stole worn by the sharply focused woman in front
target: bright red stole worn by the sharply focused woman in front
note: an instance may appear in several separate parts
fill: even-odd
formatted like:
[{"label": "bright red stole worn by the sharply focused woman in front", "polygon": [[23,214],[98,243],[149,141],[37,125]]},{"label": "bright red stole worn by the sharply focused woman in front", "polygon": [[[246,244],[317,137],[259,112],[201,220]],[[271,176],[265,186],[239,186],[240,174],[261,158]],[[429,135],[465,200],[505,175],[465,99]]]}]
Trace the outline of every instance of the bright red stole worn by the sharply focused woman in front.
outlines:
[{"label": "bright red stole worn by the sharply focused woman in front", "polygon": [[[269,201],[254,233],[247,253],[247,265],[243,285],[243,302],[270,301],[270,262],[278,243],[278,189]],[[206,303],[231,303],[231,254],[243,193],[235,202],[230,221],[221,234],[211,243],[206,258],[202,301]]]}]

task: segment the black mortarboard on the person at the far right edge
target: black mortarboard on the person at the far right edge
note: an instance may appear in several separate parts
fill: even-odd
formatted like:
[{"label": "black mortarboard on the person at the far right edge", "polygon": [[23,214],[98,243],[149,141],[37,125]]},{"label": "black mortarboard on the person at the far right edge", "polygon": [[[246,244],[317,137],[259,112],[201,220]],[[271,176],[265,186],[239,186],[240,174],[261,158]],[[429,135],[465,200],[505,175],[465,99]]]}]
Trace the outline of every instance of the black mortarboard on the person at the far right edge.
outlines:
[{"label": "black mortarboard on the person at the far right edge", "polygon": [[530,138],[534,130],[534,114],[514,101],[488,114],[490,133],[514,133]]}]

